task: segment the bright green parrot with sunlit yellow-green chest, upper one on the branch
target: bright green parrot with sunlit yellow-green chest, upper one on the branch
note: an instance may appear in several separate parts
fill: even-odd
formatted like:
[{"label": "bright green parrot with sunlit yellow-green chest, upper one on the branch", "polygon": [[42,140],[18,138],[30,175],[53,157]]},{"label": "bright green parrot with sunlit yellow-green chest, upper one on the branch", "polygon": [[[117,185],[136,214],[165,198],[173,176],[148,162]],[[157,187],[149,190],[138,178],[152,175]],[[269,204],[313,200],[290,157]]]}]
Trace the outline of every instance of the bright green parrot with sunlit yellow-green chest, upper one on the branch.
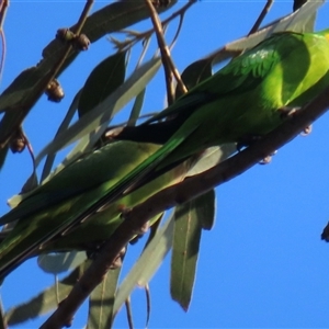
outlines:
[{"label": "bright green parrot with sunlit yellow-green chest, upper one on the branch", "polygon": [[[163,145],[92,208],[113,202],[150,172],[167,170],[211,146],[245,143],[270,133],[288,111],[304,106],[327,87],[329,29],[273,34],[158,115],[114,136],[138,141],[151,138]],[[168,121],[159,122],[163,118]]]}]

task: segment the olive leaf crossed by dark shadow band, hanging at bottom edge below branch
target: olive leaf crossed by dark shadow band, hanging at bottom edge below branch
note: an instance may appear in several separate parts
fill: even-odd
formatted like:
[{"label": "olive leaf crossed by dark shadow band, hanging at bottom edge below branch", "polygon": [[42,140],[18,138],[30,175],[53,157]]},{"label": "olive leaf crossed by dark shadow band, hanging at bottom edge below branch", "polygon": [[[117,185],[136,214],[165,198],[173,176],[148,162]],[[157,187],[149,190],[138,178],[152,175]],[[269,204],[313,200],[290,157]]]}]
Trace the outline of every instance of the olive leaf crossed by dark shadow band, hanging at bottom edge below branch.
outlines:
[{"label": "olive leaf crossed by dark shadow band, hanging at bottom edge below branch", "polygon": [[114,297],[120,272],[121,268],[110,270],[104,280],[91,293],[87,328],[112,328]]}]

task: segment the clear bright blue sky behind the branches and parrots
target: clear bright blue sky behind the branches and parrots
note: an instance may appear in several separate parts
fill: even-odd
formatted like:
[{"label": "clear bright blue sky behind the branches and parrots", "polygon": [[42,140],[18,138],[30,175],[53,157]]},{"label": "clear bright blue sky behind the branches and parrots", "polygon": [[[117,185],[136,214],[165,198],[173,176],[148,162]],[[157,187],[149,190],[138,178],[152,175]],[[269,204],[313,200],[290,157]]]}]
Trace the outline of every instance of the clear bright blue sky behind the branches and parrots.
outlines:
[{"label": "clear bright blue sky behind the branches and parrots", "polygon": [[[183,70],[225,43],[243,36],[264,2],[194,4],[184,18],[172,52],[178,68]],[[107,3],[97,2],[93,10]],[[1,90],[41,59],[42,49],[57,29],[75,23],[83,5],[83,1],[11,2],[4,24],[7,58]],[[291,8],[292,1],[275,1],[265,22],[290,13]],[[325,4],[316,30],[328,27],[328,16],[329,5]],[[173,26],[169,35],[174,32]],[[146,27],[147,23],[136,26]],[[35,154],[53,138],[80,83],[112,53],[109,41],[100,39],[60,77],[65,100],[60,104],[47,102],[46,97],[38,101],[24,124]],[[162,109],[164,95],[160,71],[147,91],[145,112]],[[314,124],[309,136],[297,137],[280,149],[272,163],[256,166],[217,189],[216,225],[212,231],[203,232],[190,310],[185,314],[170,298],[167,259],[150,283],[150,328],[328,327],[329,245],[320,240],[329,219],[328,124],[327,114]],[[26,151],[10,155],[0,175],[1,214],[8,211],[5,200],[20,191],[31,169]],[[54,277],[31,260],[1,287],[4,307],[22,303],[53,283]],[[83,327],[86,311],[84,305],[73,328]],[[145,298],[140,290],[133,294],[133,314],[136,327],[144,327]],[[35,328],[39,324],[30,321],[18,328]],[[115,327],[126,326],[122,311]]]}]

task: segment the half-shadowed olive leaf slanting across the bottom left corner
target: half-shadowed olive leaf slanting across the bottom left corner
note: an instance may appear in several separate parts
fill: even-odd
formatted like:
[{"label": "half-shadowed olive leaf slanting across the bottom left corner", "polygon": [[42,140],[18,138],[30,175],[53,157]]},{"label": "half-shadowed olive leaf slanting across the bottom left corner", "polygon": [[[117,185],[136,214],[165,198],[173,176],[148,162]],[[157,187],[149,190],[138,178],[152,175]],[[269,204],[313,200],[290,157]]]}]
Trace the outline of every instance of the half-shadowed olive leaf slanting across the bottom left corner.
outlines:
[{"label": "half-shadowed olive leaf slanting across the bottom left corner", "polygon": [[35,319],[41,315],[44,315],[58,306],[58,300],[63,300],[72,290],[72,286],[81,277],[82,273],[89,266],[90,261],[86,261],[80,264],[75,271],[72,271],[67,277],[61,280],[57,286],[53,285],[37,296],[33,297],[29,302],[10,308],[5,313],[5,320],[9,326],[14,326]]}]

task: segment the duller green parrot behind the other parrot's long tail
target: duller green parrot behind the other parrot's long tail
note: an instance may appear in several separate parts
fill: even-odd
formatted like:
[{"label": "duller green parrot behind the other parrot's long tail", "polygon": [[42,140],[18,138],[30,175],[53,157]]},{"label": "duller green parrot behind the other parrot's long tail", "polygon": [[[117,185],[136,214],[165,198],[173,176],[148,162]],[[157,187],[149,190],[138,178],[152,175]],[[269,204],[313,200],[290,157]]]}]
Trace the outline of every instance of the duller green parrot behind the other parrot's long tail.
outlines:
[{"label": "duller green parrot behind the other parrot's long tail", "polygon": [[[150,180],[93,214],[76,229],[55,236],[43,248],[38,248],[48,232],[56,231],[76,213],[88,208],[111,185],[159,148],[160,145],[156,144],[125,140],[109,144],[69,164],[45,184],[27,193],[16,207],[1,217],[3,222],[12,218],[20,220],[0,243],[0,277],[31,256],[94,248],[109,239],[122,223],[121,213],[124,207],[133,207],[161,189],[182,180],[193,160]],[[158,218],[159,216],[155,220]]]}]

